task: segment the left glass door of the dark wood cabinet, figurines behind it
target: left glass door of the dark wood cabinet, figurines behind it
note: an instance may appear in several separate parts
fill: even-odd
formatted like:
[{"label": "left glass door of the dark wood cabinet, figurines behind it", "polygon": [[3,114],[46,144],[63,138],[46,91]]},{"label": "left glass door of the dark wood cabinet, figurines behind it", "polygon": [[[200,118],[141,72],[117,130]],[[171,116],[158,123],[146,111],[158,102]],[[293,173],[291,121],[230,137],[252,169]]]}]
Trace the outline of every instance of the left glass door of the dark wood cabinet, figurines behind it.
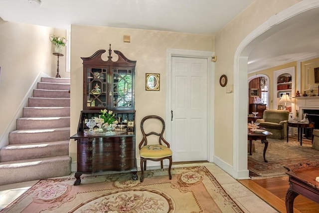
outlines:
[{"label": "left glass door of the dark wood cabinet, figurines behind it", "polygon": [[107,68],[86,68],[86,104],[88,108],[107,106]]}]

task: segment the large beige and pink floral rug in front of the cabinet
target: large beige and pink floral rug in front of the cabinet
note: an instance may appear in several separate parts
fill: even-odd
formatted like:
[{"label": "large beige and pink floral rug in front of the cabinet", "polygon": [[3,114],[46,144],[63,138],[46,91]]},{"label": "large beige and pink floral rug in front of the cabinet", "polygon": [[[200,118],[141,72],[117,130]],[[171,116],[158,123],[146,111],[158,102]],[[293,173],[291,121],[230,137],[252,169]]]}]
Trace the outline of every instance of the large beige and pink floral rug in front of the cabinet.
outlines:
[{"label": "large beige and pink floral rug in front of the cabinet", "polygon": [[[39,181],[3,213],[242,213],[205,167]],[[140,175],[140,174],[139,174]]]}]

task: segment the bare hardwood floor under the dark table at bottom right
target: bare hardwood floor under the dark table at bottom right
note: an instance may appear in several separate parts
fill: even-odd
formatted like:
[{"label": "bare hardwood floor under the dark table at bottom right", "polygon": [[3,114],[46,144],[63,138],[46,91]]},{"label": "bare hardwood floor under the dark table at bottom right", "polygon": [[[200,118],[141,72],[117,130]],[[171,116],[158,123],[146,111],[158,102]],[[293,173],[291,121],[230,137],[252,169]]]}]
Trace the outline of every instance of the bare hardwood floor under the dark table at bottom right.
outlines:
[{"label": "bare hardwood floor under the dark table at bottom right", "polygon": [[[288,176],[262,180],[239,180],[239,182],[277,211],[286,213],[285,198],[289,188]],[[319,204],[299,195],[294,202],[294,213],[319,213]]]}]

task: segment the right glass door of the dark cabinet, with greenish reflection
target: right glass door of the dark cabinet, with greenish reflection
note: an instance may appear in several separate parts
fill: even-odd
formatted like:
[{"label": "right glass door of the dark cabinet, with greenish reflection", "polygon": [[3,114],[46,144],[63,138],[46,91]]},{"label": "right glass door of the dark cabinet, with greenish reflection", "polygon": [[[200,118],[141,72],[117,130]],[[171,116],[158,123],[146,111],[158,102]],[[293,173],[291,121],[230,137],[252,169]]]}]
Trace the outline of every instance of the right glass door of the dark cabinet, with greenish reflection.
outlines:
[{"label": "right glass door of the dark cabinet, with greenish reflection", "polygon": [[113,69],[113,108],[132,108],[133,70]]}]

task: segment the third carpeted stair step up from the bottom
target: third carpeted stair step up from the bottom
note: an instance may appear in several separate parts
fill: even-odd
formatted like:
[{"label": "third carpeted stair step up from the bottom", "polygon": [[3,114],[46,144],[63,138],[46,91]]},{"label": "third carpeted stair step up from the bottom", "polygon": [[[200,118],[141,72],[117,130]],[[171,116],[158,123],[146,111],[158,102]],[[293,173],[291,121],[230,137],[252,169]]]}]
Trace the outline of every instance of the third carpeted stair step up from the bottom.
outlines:
[{"label": "third carpeted stair step up from the bottom", "polygon": [[65,141],[70,139],[70,127],[14,130],[9,133],[9,145]]}]

